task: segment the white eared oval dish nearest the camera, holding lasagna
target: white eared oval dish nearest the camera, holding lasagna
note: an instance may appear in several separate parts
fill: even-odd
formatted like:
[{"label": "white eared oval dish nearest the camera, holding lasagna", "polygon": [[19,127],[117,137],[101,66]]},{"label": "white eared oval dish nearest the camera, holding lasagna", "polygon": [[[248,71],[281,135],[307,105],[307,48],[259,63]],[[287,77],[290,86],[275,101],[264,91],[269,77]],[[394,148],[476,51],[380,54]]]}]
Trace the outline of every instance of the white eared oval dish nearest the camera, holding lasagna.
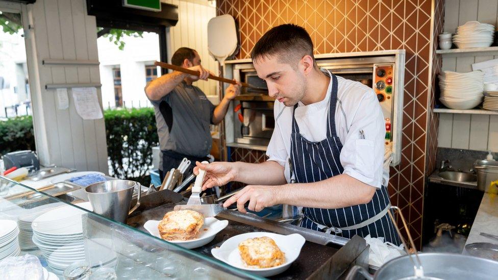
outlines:
[{"label": "white eared oval dish nearest the camera, holding lasagna", "polygon": [[[255,237],[263,237],[267,236],[277,243],[280,250],[285,254],[285,263],[279,266],[270,267],[270,268],[249,268],[246,267],[240,257],[239,252],[239,243]],[[223,242],[219,248],[211,249],[211,253],[213,257],[216,259],[225,262],[233,267],[240,268],[242,270],[267,277],[277,275],[279,273],[284,272],[290,265],[299,257],[299,253],[301,252],[301,248],[303,247],[306,240],[300,234],[290,234],[290,235],[281,235],[274,233],[265,233],[265,232],[256,232],[256,233],[245,233],[236,235],[227,239],[227,241]]]}]

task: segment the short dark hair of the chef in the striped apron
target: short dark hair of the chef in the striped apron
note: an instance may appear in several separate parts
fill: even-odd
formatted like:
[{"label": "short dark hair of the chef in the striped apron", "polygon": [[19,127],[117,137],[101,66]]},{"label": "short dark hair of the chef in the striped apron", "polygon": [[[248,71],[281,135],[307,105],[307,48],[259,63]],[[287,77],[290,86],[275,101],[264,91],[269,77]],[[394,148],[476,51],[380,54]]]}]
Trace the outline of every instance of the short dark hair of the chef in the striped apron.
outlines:
[{"label": "short dark hair of the chef in the striped apron", "polygon": [[[278,55],[280,61],[294,66],[304,56],[313,56],[313,41],[303,27],[296,24],[282,24],[268,30],[259,39],[251,53],[251,59],[265,59]],[[315,63],[316,64],[316,63]]]}]

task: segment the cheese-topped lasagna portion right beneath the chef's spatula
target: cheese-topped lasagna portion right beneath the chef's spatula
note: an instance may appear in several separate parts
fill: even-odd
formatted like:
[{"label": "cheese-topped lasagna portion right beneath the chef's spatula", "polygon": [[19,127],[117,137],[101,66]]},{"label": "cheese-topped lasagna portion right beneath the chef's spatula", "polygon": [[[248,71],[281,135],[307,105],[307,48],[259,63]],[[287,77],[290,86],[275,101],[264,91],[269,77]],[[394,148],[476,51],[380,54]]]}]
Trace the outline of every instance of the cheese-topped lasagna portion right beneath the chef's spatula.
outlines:
[{"label": "cheese-topped lasagna portion right beneath the chef's spatula", "polygon": [[168,241],[196,238],[204,224],[204,216],[192,210],[171,211],[159,222],[161,238]]}]

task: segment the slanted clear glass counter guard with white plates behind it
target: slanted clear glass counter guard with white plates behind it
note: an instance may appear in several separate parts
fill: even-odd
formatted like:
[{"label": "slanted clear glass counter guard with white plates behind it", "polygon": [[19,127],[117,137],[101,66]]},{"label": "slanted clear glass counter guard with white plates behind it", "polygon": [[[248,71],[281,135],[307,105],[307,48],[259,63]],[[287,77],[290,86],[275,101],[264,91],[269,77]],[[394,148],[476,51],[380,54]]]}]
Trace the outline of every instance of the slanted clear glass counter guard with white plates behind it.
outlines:
[{"label": "slanted clear glass counter guard with white plates behind it", "polygon": [[[19,187],[26,196],[6,195]],[[60,279],[68,266],[90,279],[92,273],[109,271],[118,279],[263,279],[95,214],[89,211],[90,202],[71,204],[69,197],[62,198],[0,176],[0,220],[17,223],[19,255],[33,254]]]}]

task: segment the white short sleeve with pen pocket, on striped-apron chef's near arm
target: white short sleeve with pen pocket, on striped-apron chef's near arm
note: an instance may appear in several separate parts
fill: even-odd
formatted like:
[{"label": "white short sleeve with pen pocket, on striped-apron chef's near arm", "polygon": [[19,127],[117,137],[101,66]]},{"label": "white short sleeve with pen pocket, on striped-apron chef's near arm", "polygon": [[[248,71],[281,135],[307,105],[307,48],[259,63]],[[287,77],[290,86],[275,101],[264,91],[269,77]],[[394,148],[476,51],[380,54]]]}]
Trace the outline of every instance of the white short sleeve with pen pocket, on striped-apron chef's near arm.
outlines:
[{"label": "white short sleeve with pen pocket, on striped-apron chef's near arm", "polygon": [[[386,128],[382,109],[374,93],[364,94],[348,130],[340,153],[343,174],[380,188]],[[360,131],[363,131],[364,137],[360,137]]]}]

